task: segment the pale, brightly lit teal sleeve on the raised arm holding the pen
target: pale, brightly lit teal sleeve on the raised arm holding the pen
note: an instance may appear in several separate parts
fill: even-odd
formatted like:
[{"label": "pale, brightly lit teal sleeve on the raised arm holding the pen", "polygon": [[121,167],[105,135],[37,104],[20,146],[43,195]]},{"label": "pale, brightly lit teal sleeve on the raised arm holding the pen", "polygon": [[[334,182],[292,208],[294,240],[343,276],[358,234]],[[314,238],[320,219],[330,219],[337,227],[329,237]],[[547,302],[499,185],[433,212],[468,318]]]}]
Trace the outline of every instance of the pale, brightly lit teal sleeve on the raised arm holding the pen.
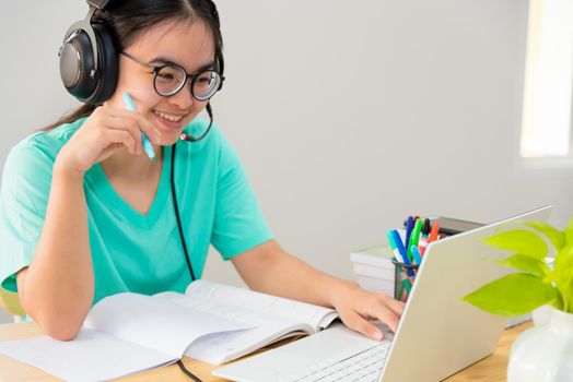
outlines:
[{"label": "pale, brightly lit teal sleeve on the raised arm holding the pen", "polygon": [[54,156],[34,135],[14,146],[5,160],[0,189],[0,283],[16,291],[15,273],[36,251],[48,204]]}]

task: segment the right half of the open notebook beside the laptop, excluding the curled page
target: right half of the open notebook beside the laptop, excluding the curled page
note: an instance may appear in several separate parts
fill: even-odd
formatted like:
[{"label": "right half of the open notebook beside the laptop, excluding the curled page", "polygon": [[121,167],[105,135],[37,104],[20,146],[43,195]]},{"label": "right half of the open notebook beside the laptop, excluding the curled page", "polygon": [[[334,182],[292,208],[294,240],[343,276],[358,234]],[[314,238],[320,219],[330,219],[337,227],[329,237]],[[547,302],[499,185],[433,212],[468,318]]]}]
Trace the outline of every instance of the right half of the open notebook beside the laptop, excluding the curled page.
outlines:
[{"label": "right half of the open notebook beside the laptop, excluding the curled page", "polygon": [[168,291],[157,297],[252,327],[203,336],[185,351],[213,365],[289,336],[316,333],[338,317],[332,309],[202,280],[191,283],[185,295]]}]

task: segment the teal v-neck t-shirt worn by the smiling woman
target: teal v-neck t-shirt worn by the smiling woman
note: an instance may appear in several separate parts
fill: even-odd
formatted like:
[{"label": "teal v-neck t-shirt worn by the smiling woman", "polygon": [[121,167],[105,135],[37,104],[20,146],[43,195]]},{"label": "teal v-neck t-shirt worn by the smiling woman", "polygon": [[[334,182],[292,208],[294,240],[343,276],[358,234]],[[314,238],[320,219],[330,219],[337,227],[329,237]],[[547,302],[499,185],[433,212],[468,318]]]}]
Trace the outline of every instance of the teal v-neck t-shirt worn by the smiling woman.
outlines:
[{"label": "teal v-neck t-shirt worn by the smiling woman", "polygon": [[[35,133],[7,158],[0,190],[0,283],[16,291],[15,273],[36,250],[51,184],[54,160],[85,119]],[[207,121],[185,129],[199,135]],[[175,189],[195,275],[204,267],[209,244],[229,260],[272,238],[241,162],[213,126],[202,141],[177,142]],[[190,274],[177,229],[165,146],[157,192],[147,215],[115,192],[100,164],[84,176],[90,248],[95,277],[93,303],[122,293],[184,291]],[[5,291],[4,291],[5,293]]]}]

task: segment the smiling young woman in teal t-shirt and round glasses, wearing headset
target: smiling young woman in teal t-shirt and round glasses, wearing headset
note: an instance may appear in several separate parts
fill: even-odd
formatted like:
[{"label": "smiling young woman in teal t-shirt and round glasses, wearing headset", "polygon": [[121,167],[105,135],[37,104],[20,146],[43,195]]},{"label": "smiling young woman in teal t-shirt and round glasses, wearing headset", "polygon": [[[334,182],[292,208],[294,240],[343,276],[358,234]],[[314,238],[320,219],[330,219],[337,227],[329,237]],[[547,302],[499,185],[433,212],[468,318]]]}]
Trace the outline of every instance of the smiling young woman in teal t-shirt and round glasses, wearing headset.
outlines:
[{"label": "smiling young woman in teal t-shirt and round glasses, wearing headset", "polygon": [[[212,1],[94,2],[100,9],[91,5],[86,22],[101,46],[93,60],[108,62],[107,72],[84,73],[89,60],[73,60],[91,39],[71,33],[62,80],[85,104],[20,142],[5,163],[4,293],[17,293],[47,334],[71,339],[106,296],[184,291],[213,244],[252,289],[334,307],[373,338],[382,333],[370,319],[396,330],[401,302],[320,273],[273,240],[235,152],[211,129],[209,99],[224,80]],[[196,118],[206,108],[211,120]]]}]

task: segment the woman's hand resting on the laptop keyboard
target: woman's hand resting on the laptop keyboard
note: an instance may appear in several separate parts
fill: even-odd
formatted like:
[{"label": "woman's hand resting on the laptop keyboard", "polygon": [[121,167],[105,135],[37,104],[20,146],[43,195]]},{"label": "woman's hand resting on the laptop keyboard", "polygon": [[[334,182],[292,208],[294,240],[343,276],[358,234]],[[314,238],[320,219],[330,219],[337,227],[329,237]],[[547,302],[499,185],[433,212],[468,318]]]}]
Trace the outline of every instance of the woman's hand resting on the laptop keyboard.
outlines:
[{"label": "woman's hand resting on the laptop keyboard", "polygon": [[372,339],[381,341],[382,332],[369,320],[379,320],[396,332],[405,303],[386,294],[367,291],[348,282],[340,284],[336,289],[332,306],[348,327]]}]

